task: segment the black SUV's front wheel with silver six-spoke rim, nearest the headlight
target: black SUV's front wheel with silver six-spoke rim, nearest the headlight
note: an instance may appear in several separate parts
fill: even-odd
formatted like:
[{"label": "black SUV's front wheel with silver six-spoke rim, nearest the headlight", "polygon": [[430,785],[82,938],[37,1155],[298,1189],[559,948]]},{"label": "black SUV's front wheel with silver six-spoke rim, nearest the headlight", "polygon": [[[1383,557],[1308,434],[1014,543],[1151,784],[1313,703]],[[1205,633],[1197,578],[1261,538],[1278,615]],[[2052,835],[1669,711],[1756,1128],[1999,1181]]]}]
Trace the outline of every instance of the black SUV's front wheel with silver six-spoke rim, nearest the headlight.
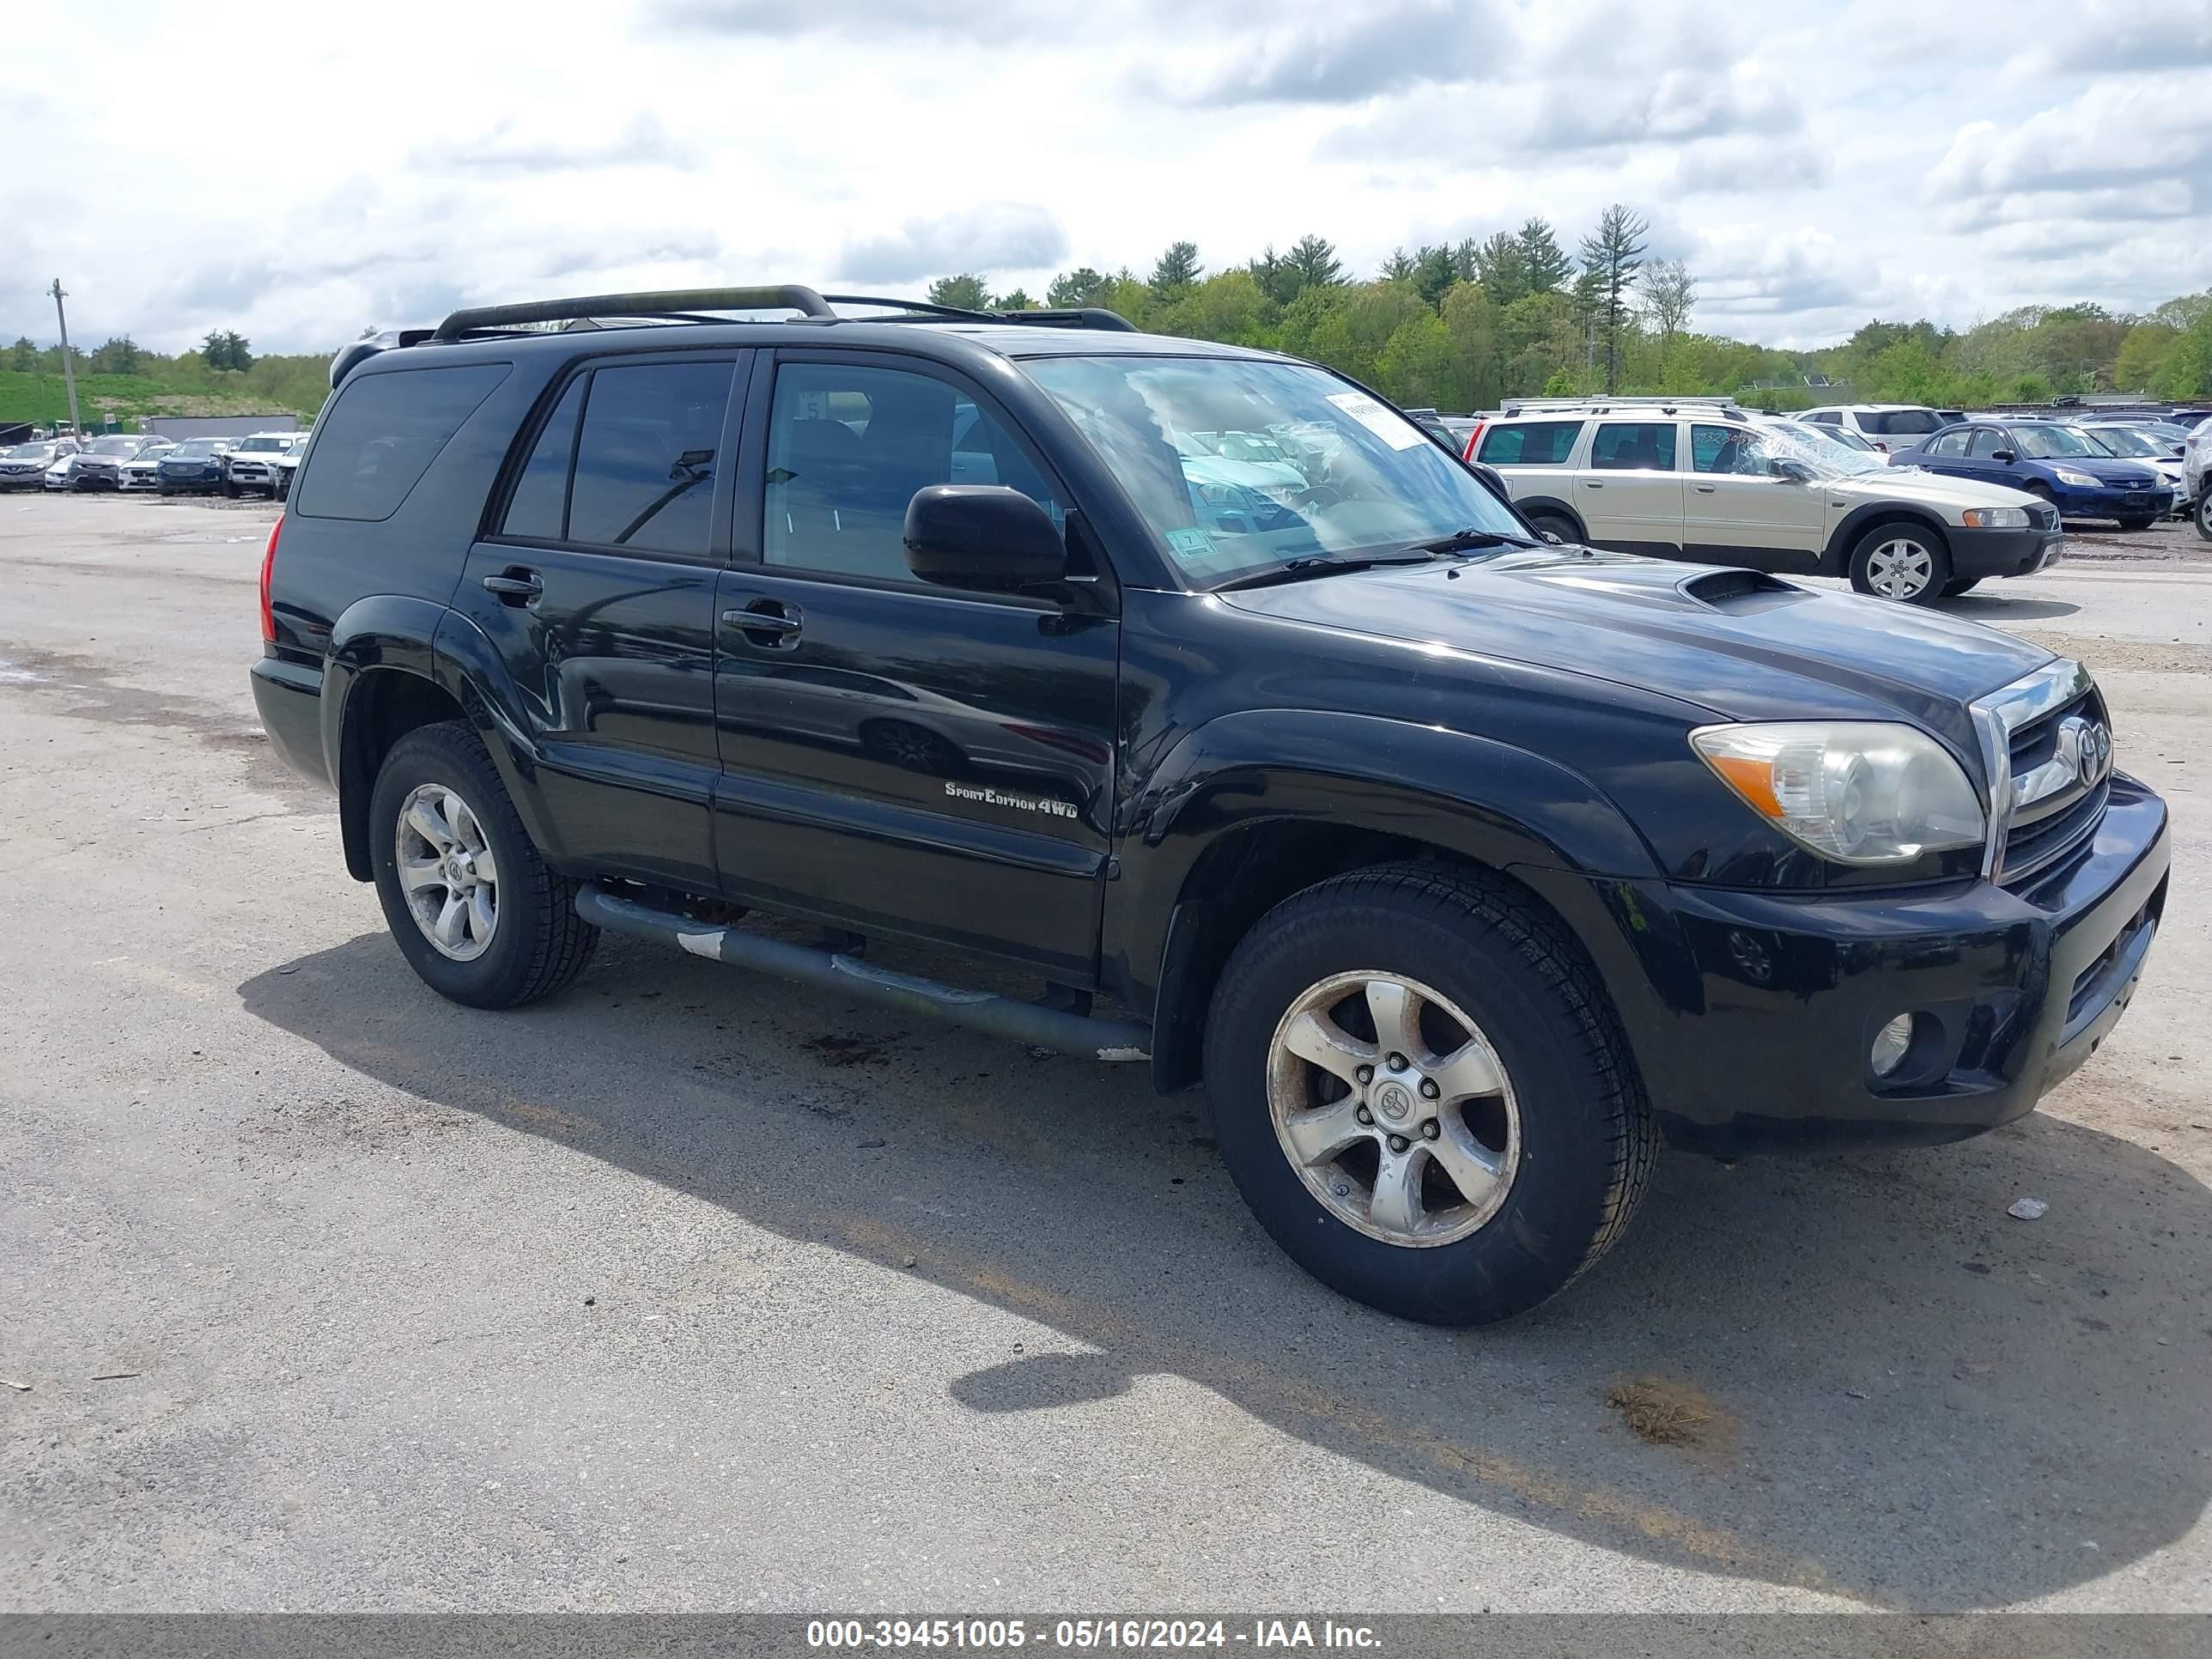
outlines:
[{"label": "black SUV's front wheel with silver six-spoke rim, nearest the headlight", "polygon": [[1502,885],[1429,865],[1267,911],[1214,987],[1206,1086],[1274,1241],[1345,1296],[1433,1325],[1520,1314],[1588,1270],[1657,1157],[1573,942]]}]

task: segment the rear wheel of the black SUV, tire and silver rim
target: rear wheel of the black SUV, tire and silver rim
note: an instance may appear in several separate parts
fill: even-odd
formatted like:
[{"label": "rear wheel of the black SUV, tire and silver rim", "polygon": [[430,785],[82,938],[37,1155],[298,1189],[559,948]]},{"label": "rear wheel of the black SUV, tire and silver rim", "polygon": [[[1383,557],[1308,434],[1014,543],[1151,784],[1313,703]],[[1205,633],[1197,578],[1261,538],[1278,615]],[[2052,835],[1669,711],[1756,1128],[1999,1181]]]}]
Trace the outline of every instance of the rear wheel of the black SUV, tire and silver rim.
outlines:
[{"label": "rear wheel of the black SUV, tire and silver rim", "polygon": [[538,856],[462,721],[392,745],[369,796],[369,858],[400,956],[431,991],[471,1009],[553,995],[599,942],[575,914],[577,885]]}]

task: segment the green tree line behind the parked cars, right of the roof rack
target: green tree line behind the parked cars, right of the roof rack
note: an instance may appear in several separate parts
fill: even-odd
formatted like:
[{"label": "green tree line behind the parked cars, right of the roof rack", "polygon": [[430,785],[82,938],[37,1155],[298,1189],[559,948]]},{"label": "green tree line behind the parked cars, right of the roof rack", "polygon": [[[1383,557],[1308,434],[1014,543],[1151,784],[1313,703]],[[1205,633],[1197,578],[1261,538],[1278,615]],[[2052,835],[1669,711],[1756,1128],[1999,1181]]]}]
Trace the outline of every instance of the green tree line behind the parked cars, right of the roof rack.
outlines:
[{"label": "green tree line behind the parked cars, right of the roof rack", "polygon": [[1438,409],[1597,392],[1741,396],[1774,409],[2212,396],[2212,294],[2148,314],[2031,305],[1969,330],[1871,321],[1838,345],[1796,352],[1697,332],[1697,276],[1683,261],[1646,259],[1648,230],[1615,204],[1575,252],[1555,226],[1528,219],[1480,241],[1394,250],[1371,279],[1318,234],[1214,272],[1197,243],[1177,241],[1150,274],[1066,270],[1042,301],[1020,288],[993,294],[980,272],[940,276],[929,299],[969,310],[1102,305],[1152,334],[1290,352]]}]

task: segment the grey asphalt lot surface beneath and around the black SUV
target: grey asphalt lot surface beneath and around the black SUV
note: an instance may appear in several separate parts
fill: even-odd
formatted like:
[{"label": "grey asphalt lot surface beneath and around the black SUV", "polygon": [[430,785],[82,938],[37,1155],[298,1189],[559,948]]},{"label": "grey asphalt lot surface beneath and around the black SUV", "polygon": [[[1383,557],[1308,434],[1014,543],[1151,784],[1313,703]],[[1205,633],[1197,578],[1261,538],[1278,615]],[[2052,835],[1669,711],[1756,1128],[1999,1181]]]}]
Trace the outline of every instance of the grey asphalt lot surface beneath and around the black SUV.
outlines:
[{"label": "grey asphalt lot surface beneath and around the black SUV", "polygon": [[2212,1610],[2185,529],[1958,604],[2174,807],[2097,1060],[1944,1150],[1668,1155],[1436,1332],[1135,1071],[622,940],[440,1002],[257,730],[268,520],[0,495],[0,1610]]}]

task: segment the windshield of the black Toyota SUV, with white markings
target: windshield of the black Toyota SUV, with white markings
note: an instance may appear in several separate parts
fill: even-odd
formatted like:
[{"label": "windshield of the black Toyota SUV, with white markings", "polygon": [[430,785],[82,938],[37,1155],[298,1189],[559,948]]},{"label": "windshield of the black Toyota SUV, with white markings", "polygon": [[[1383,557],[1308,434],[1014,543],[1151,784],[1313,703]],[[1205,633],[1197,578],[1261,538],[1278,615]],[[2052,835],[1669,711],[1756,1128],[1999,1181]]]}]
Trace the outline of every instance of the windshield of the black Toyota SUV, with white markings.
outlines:
[{"label": "windshield of the black Toyota SUV, with white markings", "polygon": [[[1528,535],[1420,427],[1305,363],[1060,356],[1022,369],[1201,584],[1316,555],[1394,553],[1455,531]],[[1208,453],[1194,434],[1267,434],[1281,460],[1230,458],[1230,445]]]}]

